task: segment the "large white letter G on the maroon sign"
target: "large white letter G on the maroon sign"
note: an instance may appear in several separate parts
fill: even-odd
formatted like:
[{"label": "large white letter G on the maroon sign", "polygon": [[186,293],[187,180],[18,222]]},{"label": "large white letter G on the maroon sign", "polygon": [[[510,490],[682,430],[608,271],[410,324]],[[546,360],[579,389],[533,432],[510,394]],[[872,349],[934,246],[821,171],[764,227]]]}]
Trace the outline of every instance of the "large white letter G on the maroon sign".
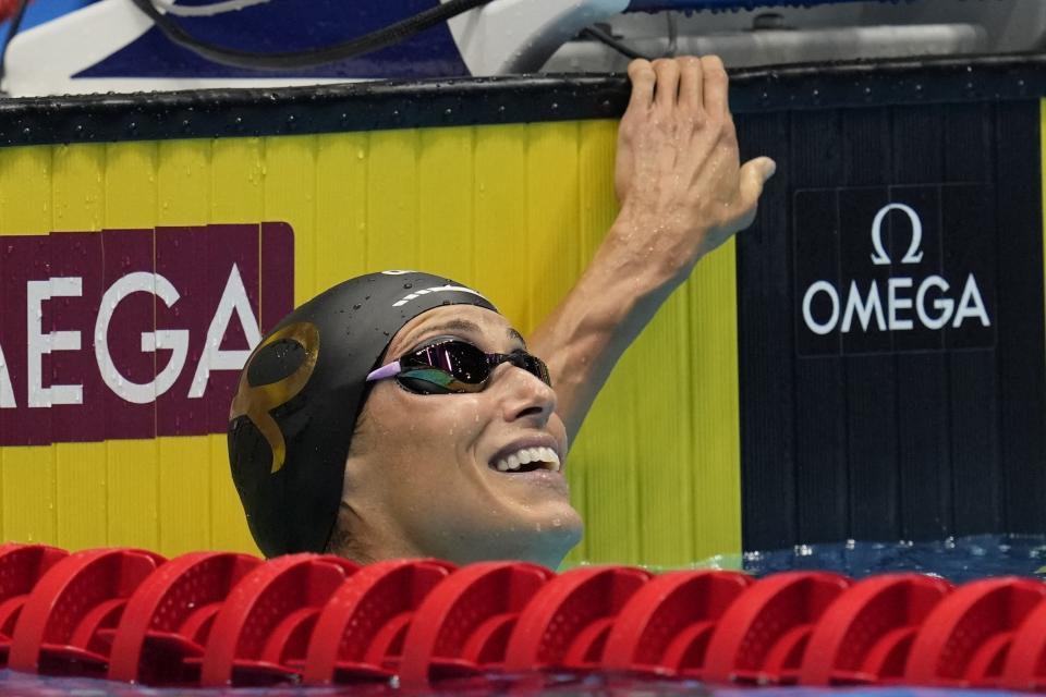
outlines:
[{"label": "large white letter G on the maroon sign", "polygon": [[109,354],[109,322],[117,306],[132,293],[149,293],[171,307],[180,297],[178,290],[159,273],[135,271],[109,286],[101,296],[101,308],[95,322],[95,358],[101,379],[109,389],[132,404],[147,404],[171,389],[185,365],[188,354],[188,331],[184,329],[142,332],[142,351],[151,353],[157,348],[171,348],[171,359],[150,382],[133,382],[124,377],[112,363]]}]

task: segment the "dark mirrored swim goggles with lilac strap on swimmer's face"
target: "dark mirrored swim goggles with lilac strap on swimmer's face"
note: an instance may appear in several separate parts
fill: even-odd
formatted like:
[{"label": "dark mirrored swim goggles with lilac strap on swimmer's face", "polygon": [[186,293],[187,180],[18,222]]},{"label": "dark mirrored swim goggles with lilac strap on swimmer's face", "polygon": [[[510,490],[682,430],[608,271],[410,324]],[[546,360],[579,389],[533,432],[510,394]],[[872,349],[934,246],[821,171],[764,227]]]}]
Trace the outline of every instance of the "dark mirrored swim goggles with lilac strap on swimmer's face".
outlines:
[{"label": "dark mirrored swim goggles with lilac strap on swimmer's face", "polygon": [[487,387],[490,372],[502,363],[523,368],[547,386],[552,381],[548,366],[525,351],[484,353],[461,340],[448,339],[400,356],[367,376],[367,382],[396,378],[416,394],[479,392]]}]

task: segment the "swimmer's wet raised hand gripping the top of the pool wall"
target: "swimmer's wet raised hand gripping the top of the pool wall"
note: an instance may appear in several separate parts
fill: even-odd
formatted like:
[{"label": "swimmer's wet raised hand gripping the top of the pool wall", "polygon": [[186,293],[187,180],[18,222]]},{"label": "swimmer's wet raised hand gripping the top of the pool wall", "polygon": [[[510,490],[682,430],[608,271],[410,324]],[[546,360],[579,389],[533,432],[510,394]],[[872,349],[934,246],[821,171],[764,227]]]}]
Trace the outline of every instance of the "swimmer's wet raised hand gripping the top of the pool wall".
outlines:
[{"label": "swimmer's wet raised hand gripping the top of the pool wall", "polygon": [[636,60],[629,77],[615,170],[621,212],[611,235],[634,261],[678,283],[752,224],[776,166],[765,157],[740,164],[718,58]]}]

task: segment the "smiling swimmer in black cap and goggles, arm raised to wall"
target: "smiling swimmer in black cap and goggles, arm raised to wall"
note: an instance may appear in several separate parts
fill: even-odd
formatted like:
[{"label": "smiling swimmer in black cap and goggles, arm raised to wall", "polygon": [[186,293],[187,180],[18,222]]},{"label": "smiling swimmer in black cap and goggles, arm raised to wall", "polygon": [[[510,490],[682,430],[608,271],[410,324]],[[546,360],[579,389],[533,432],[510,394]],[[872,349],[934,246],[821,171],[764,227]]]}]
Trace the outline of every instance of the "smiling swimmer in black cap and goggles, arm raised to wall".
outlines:
[{"label": "smiling swimmer in black cap and goggles, arm raised to wall", "polygon": [[385,271],[305,303],[258,344],[229,452],[267,557],[555,568],[577,543],[570,439],[657,308],[752,223],[775,167],[740,164],[719,59],[637,60],[629,76],[620,213],[528,342],[479,291]]}]

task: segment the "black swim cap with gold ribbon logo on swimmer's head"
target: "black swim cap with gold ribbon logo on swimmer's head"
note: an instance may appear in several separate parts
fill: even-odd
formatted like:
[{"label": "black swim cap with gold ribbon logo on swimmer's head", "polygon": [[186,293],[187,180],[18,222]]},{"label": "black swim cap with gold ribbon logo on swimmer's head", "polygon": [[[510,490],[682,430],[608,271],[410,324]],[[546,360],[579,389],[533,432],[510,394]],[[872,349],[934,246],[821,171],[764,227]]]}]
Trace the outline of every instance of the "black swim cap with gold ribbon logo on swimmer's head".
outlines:
[{"label": "black swim cap with gold ribbon logo on swimmer's head", "polygon": [[403,325],[441,305],[497,311],[446,278],[369,273],[292,311],[247,358],[229,414],[229,461],[266,557],[324,551],[367,374]]}]

